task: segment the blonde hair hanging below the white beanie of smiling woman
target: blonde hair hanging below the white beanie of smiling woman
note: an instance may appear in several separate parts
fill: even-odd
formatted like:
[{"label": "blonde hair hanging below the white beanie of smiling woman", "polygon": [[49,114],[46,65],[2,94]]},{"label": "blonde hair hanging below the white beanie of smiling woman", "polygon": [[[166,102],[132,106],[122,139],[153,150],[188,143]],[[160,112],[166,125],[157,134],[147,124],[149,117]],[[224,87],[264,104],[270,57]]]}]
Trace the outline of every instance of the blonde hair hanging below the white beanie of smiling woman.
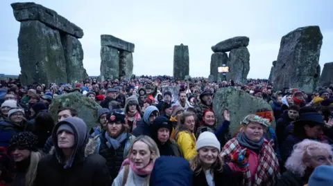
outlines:
[{"label": "blonde hair hanging below the white beanie of smiling woman", "polygon": [[[191,170],[194,172],[196,176],[200,174],[201,171],[203,171],[202,167],[202,161],[199,158],[199,154],[196,154],[191,160],[189,160],[189,167],[191,167]],[[214,169],[216,169],[219,172],[223,172],[223,165],[224,161],[221,156],[217,156],[216,161],[212,164],[210,173],[213,174]]]}]

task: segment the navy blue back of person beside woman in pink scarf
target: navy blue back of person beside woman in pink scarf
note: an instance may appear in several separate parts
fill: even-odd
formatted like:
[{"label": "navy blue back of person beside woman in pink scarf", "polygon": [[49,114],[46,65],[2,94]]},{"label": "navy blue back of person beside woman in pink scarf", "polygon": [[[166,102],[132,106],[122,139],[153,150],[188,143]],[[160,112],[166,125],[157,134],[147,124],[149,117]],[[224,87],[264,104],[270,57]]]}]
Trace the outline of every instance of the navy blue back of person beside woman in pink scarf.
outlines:
[{"label": "navy blue back of person beside woman in pink scarf", "polygon": [[184,158],[161,156],[154,163],[149,185],[192,186],[193,176],[189,162]]}]

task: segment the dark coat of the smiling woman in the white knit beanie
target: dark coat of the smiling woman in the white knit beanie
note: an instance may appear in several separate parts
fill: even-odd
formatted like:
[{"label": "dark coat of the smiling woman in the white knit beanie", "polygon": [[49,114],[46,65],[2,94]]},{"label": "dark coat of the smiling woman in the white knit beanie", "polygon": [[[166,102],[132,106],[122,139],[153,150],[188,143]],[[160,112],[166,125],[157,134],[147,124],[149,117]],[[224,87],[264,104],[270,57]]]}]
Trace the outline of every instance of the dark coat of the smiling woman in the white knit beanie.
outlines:
[{"label": "dark coat of the smiling woman in the white knit beanie", "polygon": [[[228,165],[224,165],[222,172],[214,169],[213,178],[216,186],[241,186],[240,180],[242,175],[232,171]],[[205,176],[205,171],[200,171],[200,174],[193,175],[193,186],[209,186]]]}]

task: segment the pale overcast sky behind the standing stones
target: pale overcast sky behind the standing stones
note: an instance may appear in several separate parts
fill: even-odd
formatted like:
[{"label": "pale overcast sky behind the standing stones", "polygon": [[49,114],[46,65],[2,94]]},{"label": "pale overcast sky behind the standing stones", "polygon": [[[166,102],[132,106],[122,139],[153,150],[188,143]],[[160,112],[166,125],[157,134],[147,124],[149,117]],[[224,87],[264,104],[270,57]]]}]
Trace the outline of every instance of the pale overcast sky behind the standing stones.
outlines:
[{"label": "pale overcast sky behind the standing stones", "polygon": [[[0,73],[20,73],[17,56],[19,22],[10,3],[0,1]],[[27,2],[27,1],[20,1]],[[189,75],[207,77],[211,46],[230,37],[250,37],[248,77],[268,78],[278,57],[280,40],[291,30],[318,25],[323,33],[320,64],[332,62],[333,1],[191,1],[191,0],[37,0],[83,29],[83,64],[100,75],[100,35],[135,44],[136,75],[172,75],[173,47],[189,46]]]}]

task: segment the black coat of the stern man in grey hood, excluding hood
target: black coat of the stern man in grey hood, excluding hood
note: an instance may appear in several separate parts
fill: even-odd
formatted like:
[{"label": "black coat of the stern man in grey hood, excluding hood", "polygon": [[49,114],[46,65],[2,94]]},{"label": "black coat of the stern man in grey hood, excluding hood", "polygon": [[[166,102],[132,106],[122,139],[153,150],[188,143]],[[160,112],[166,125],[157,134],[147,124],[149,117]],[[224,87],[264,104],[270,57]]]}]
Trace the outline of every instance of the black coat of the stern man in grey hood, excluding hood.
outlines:
[{"label": "black coat of the stern man in grey hood, excluding hood", "polygon": [[74,160],[71,168],[64,169],[56,154],[44,156],[38,163],[34,186],[110,186],[106,160],[94,151],[85,152],[84,160]]}]

